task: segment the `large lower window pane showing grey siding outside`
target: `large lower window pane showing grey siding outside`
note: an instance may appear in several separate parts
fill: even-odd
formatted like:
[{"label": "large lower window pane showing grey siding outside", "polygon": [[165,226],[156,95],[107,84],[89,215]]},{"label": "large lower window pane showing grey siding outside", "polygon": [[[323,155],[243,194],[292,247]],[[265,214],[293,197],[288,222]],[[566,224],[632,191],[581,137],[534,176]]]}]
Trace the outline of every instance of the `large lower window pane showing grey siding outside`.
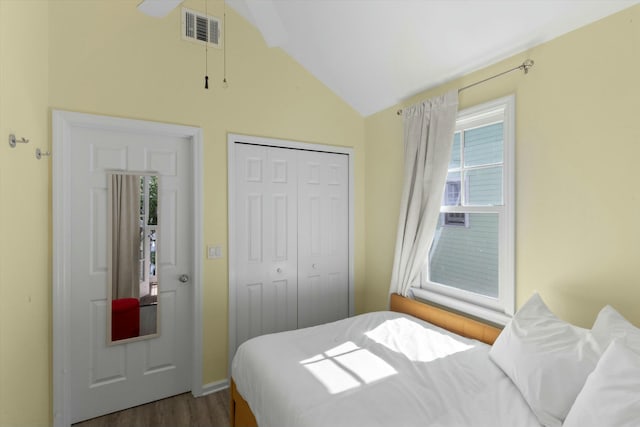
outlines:
[{"label": "large lower window pane showing grey siding outside", "polygon": [[498,214],[467,213],[467,227],[440,222],[429,253],[432,282],[498,297]]}]

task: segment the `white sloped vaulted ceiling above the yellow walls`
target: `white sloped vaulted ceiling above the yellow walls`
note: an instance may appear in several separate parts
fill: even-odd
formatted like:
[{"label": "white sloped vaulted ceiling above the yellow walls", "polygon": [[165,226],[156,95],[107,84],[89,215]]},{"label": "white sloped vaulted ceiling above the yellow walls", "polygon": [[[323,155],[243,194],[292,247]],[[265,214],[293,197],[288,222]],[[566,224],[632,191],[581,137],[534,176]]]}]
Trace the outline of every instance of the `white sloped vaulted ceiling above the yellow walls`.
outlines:
[{"label": "white sloped vaulted ceiling above the yellow walls", "polygon": [[282,48],[356,111],[368,116],[639,1],[227,3],[260,30],[267,45]]}]

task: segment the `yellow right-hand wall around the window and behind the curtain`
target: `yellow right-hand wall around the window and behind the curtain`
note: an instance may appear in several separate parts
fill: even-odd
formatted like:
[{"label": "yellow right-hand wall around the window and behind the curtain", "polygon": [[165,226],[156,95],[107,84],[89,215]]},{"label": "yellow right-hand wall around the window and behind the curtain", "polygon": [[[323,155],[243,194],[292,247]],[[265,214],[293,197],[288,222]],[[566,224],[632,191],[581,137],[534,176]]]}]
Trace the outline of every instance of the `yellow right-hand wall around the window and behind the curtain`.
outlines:
[{"label": "yellow right-hand wall around the window and behind the curtain", "polygon": [[[417,53],[418,54],[418,53]],[[640,324],[640,6],[408,100],[462,87],[460,108],[516,95],[517,306],[534,290],[591,326],[609,303]],[[366,119],[366,310],[386,306],[402,183],[398,107]],[[391,200],[391,202],[390,202]]]}]

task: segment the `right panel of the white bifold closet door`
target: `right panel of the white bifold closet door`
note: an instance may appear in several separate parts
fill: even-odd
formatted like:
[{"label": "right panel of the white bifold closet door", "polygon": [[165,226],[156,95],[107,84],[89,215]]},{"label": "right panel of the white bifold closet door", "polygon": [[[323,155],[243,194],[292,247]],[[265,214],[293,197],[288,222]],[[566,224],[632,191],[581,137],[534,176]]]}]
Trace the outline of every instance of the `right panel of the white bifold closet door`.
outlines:
[{"label": "right panel of the white bifold closet door", "polygon": [[298,327],[349,315],[348,156],[298,152]]}]

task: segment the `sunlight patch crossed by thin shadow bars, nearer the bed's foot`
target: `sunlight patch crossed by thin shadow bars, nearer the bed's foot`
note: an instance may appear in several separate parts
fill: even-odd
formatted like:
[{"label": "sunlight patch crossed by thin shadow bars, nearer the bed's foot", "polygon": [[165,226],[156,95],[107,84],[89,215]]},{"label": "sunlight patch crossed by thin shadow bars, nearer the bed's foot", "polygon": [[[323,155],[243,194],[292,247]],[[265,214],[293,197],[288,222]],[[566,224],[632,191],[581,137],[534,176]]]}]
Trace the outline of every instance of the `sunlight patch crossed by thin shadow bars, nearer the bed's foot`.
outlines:
[{"label": "sunlight patch crossed by thin shadow bars, nearer the bed's foot", "polygon": [[348,341],[300,362],[331,394],[381,380],[397,371],[387,362]]}]

